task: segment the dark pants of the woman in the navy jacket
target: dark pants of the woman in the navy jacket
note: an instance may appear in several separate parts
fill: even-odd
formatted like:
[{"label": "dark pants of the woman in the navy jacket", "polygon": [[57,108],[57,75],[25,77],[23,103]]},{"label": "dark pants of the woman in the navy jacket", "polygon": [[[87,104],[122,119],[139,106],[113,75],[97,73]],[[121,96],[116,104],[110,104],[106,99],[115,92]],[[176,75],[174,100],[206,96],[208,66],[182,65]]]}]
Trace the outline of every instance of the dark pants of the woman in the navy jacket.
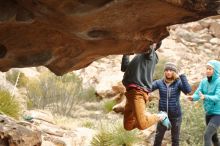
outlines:
[{"label": "dark pants of the woman in the navy jacket", "polygon": [[[170,122],[172,125],[172,128],[171,128],[172,146],[179,146],[179,136],[180,136],[180,127],[182,123],[182,117],[170,118]],[[161,146],[166,130],[167,128],[163,126],[161,123],[157,124],[154,146]]]}]

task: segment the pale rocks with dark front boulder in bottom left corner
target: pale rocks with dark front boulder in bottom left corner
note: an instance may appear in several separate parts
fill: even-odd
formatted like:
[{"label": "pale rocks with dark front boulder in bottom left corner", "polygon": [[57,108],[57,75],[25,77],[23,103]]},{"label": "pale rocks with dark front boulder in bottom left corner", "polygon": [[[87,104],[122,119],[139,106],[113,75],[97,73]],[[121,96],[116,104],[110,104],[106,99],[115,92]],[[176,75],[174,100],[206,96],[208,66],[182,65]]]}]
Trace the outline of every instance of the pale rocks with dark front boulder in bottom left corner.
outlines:
[{"label": "pale rocks with dark front boulder in bottom left corner", "polygon": [[90,146],[95,130],[55,125],[48,111],[25,111],[24,120],[0,115],[0,146]]}]

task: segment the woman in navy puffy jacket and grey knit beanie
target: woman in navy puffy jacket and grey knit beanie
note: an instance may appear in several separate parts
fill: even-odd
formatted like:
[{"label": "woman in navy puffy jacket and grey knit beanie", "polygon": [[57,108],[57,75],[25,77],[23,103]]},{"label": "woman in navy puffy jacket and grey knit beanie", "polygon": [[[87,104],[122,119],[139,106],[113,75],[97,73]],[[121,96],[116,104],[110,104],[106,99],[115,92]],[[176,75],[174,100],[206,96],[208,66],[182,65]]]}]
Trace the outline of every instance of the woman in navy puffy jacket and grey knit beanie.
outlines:
[{"label": "woman in navy puffy jacket and grey knit beanie", "polygon": [[[159,110],[165,111],[171,122],[172,146],[179,146],[182,112],[180,106],[180,93],[191,92],[191,87],[184,74],[178,75],[174,63],[167,62],[164,67],[164,78],[153,82],[152,91],[158,89],[160,94]],[[154,146],[161,146],[167,128],[161,123],[157,124]]]}]

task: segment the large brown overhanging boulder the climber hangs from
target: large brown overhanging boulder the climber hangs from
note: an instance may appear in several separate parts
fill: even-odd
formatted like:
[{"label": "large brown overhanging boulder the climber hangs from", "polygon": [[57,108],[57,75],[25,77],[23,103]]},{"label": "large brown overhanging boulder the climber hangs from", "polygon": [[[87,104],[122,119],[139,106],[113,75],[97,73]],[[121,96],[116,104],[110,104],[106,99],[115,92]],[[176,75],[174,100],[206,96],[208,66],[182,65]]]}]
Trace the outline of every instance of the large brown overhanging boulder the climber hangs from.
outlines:
[{"label": "large brown overhanging boulder the climber hangs from", "polygon": [[0,70],[44,65],[57,75],[143,52],[167,26],[216,15],[217,0],[0,0]]}]

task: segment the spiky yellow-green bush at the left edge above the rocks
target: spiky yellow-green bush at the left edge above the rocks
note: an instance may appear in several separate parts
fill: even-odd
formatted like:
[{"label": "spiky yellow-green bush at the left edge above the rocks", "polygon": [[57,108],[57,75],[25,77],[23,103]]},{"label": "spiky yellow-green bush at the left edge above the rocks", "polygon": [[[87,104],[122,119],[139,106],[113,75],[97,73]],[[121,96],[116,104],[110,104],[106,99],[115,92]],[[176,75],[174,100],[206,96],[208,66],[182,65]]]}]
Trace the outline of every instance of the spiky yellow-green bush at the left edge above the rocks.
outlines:
[{"label": "spiky yellow-green bush at the left edge above the rocks", "polygon": [[20,106],[8,91],[0,90],[0,112],[18,119],[20,116]]}]

